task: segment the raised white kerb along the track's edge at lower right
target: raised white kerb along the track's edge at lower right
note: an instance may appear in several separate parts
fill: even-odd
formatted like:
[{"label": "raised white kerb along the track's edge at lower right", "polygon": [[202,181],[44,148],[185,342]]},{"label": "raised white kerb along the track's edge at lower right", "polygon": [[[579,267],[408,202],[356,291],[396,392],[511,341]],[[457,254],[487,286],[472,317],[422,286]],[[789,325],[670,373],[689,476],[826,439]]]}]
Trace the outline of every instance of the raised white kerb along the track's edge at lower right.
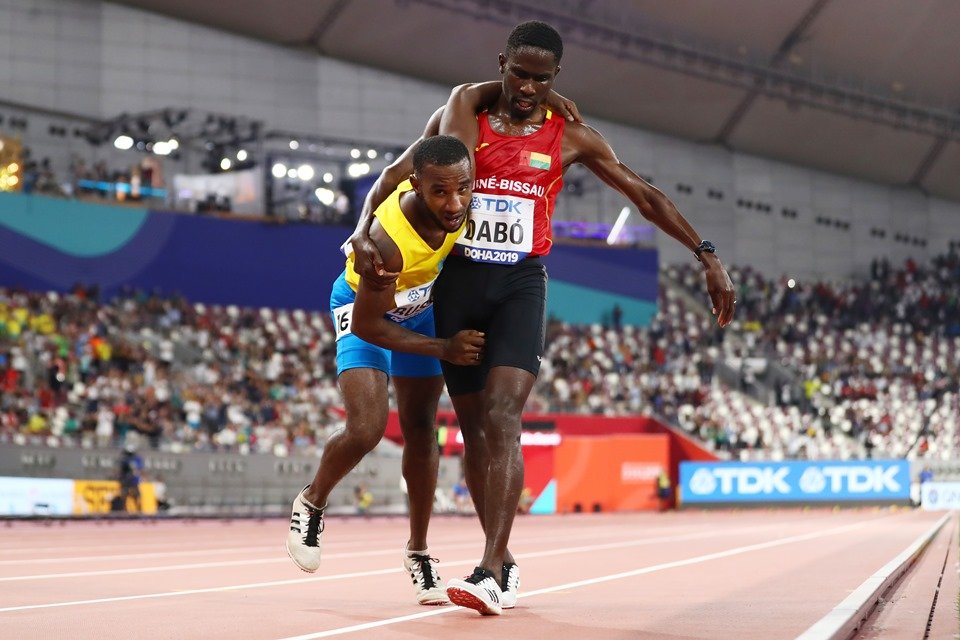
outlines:
[{"label": "raised white kerb along the track's edge at lower right", "polygon": [[882,596],[886,588],[900,577],[915,556],[927,546],[927,543],[933,539],[951,517],[953,517],[953,513],[947,513],[940,518],[936,524],[922,533],[900,555],[854,589],[853,593],[844,598],[843,602],[834,607],[830,613],[797,636],[797,640],[830,640],[831,638],[849,637],[864,616],[869,614],[869,610],[876,603],[877,598]]}]

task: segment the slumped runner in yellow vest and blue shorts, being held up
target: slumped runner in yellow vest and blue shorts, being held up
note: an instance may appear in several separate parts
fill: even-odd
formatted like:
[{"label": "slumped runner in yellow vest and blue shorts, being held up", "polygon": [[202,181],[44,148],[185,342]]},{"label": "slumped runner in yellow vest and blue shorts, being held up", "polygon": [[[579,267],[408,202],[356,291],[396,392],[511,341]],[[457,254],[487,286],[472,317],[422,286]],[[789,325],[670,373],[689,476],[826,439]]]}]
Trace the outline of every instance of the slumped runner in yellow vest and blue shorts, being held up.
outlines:
[{"label": "slumped runner in yellow vest and blue shorts, being held up", "polygon": [[400,274],[397,280],[382,287],[361,278],[348,252],[330,295],[347,424],[326,443],[313,482],[294,500],[287,536],[290,558],[304,571],[316,571],[327,498],[383,437],[387,381],[393,377],[410,497],[403,563],[420,604],[449,602],[427,548],[439,465],[434,423],[443,377],[438,358],[479,364],[484,344],[477,331],[438,339],[433,329],[433,281],[460,235],[472,184],[462,142],[449,136],[423,140],[414,150],[413,175],[377,208],[370,233],[387,268]]}]

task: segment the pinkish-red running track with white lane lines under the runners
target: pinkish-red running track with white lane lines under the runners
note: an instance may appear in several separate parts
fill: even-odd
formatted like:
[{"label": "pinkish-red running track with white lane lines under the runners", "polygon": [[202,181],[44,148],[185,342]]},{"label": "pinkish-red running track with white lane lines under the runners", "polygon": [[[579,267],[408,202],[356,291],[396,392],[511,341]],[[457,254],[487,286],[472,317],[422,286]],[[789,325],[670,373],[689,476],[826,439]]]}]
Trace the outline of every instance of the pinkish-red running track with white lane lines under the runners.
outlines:
[{"label": "pinkish-red running track with white lane lines under the runners", "polygon": [[[286,521],[0,526],[0,638],[795,638],[942,514],[813,510],[517,519],[517,608],[420,607],[406,520],[327,519],[318,574]],[[473,518],[437,517],[443,577],[482,551]]]}]

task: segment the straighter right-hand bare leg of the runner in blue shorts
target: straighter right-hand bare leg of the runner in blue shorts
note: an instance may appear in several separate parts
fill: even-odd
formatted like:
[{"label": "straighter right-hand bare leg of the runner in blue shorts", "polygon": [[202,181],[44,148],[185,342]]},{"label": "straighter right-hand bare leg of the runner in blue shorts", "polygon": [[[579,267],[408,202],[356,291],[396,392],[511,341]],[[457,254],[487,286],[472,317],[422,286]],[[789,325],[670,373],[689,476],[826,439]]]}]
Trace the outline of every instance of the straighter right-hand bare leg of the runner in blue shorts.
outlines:
[{"label": "straighter right-hand bare leg of the runner in blue shorts", "polygon": [[403,431],[403,478],[410,497],[410,540],[407,549],[427,548],[427,527],[433,512],[440,453],[434,425],[443,377],[394,377],[397,411]]}]

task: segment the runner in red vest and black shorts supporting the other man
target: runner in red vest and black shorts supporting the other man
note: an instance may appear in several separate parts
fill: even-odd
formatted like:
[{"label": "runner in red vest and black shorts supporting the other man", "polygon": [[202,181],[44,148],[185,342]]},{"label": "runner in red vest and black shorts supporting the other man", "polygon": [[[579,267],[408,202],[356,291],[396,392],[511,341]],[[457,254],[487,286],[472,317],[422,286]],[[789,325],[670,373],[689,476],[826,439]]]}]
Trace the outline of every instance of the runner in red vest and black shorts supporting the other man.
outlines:
[{"label": "runner in red vest and black shorts supporting the other man", "polygon": [[[519,571],[507,542],[523,486],[520,416],[543,354],[546,272],[539,256],[549,250],[549,232],[542,230],[549,227],[553,214],[553,201],[546,198],[552,183],[543,185],[544,206],[534,207],[531,212],[523,203],[511,200],[528,195],[514,187],[532,191],[539,183],[527,186],[527,180],[517,176],[521,172],[528,175],[531,161],[542,160],[547,171],[558,161],[561,171],[575,162],[583,164],[629,199],[645,218],[690,249],[703,265],[713,312],[721,327],[733,318],[736,302],[733,284],[714,245],[700,238],[669,198],[621,163],[596,130],[568,122],[560,132],[559,154],[551,151],[548,162],[540,157],[542,151],[534,148],[533,142],[554,126],[554,116],[544,102],[560,71],[562,54],[560,35],[550,25],[537,21],[518,25],[507,40],[506,53],[499,56],[502,83],[458,87],[424,131],[425,137],[440,132],[455,135],[468,149],[476,149],[474,192],[477,197],[486,194],[490,198],[490,202],[479,203],[481,215],[475,218],[474,244],[464,245],[461,255],[447,259],[433,290],[438,337],[472,327],[483,331],[487,339],[480,366],[444,367],[464,437],[467,484],[486,534],[479,566],[466,579],[450,581],[447,594],[453,602],[484,614],[499,614],[516,602]],[[487,105],[487,111],[481,114],[478,127],[474,114],[483,105]],[[487,139],[488,134],[492,141]],[[507,138],[513,140],[504,142]],[[489,156],[485,144],[493,146],[494,142],[503,142],[515,151],[512,156]],[[507,160],[499,162],[504,157],[514,158],[513,168]],[[494,164],[498,168],[493,168]],[[508,173],[501,174],[501,170]],[[368,194],[364,217],[351,238],[358,255],[357,269],[364,277],[369,274],[371,281],[379,277],[386,283],[394,275],[385,273],[375,247],[365,238],[367,210],[379,204],[409,172],[406,153],[384,170]],[[505,191],[487,191],[504,180]],[[509,231],[515,223],[523,226],[528,213],[535,237],[524,255],[526,236],[522,240],[519,234],[510,238]],[[480,237],[476,220],[482,219],[488,224]],[[497,222],[507,225],[506,231],[501,226],[498,234]],[[536,230],[541,230],[539,236]],[[479,246],[477,239],[494,246]]]}]

